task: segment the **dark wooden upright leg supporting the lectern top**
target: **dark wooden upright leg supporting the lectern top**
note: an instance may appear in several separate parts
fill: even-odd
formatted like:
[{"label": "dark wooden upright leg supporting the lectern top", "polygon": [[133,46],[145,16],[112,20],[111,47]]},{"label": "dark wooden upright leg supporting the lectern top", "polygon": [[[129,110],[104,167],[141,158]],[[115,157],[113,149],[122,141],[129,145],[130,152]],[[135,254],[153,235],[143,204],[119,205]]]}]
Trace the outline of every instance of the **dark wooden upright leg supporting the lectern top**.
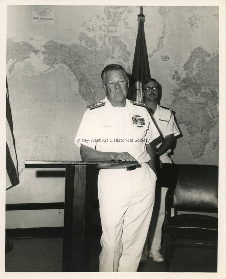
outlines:
[{"label": "dark wooden upright leg supporting the lectern top", "polygon": [[62,271],[90,271],[94,168],[66,166]]}]

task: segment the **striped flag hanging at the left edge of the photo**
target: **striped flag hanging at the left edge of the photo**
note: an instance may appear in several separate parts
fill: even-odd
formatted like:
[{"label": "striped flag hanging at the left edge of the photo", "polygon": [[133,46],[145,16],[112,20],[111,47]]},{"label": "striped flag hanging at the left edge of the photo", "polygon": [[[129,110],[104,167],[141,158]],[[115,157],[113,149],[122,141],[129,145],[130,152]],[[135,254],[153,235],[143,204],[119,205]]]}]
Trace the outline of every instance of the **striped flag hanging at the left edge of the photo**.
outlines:
[{"label": "striped flag hanging at the left edge of the photo", "polygon": [[17,184],[19,184],[18,161],[9,104],[8,83],[6,80],[6,189]]}]

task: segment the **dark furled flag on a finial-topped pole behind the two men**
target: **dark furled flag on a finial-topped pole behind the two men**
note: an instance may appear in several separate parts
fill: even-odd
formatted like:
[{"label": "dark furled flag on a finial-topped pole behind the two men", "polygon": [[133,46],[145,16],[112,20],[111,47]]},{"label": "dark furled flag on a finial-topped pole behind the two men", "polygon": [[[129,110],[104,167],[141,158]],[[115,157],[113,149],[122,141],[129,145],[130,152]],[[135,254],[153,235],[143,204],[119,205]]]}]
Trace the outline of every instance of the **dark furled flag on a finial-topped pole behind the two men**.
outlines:
[{"label": "dark furled flag on a finial-topped pole behind the two men", "polygon": [[145,16],[143,15],[143,6],[140,6],[140,14],[138,14],[137,41],[134,51],[130,88],[130,92],[132,91],[130,93],[130,98],[138,102],[143,101],[141,89],[142,82],[151,77],[144,34],[144,18]]}]

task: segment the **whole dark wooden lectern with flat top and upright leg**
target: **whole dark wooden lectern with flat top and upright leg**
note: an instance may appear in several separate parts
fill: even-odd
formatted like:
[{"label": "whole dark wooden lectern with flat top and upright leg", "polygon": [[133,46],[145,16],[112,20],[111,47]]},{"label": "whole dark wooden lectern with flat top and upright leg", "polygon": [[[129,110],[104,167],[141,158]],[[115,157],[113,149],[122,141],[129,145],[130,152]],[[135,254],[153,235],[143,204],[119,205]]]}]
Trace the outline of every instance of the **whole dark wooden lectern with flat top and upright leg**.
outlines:
[{"label": "whole dark wooden lectern with flat top and upright leg", "polygon": [[137,161],[25,161],[25,168],[65,171],[62,271],[90,271],[94,169],[136,169]]}]

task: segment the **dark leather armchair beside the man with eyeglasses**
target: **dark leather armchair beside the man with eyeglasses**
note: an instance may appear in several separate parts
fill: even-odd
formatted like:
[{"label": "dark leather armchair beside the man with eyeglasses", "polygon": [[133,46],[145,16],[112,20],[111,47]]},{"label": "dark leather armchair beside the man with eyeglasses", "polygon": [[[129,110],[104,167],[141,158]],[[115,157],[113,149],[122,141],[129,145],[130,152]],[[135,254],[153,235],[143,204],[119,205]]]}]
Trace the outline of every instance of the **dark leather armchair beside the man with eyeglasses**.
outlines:
[{"label": "dark leather armchair beside the man with eyeglasses", "polygon": [[[189,214],[177,214],[178,211]],[[169,271],[172,247],[217,248],[218,220],[199,212],[218,212],[218,166],[179,165],[176,189],[168,189],[166,194],[165,272]]]}]

